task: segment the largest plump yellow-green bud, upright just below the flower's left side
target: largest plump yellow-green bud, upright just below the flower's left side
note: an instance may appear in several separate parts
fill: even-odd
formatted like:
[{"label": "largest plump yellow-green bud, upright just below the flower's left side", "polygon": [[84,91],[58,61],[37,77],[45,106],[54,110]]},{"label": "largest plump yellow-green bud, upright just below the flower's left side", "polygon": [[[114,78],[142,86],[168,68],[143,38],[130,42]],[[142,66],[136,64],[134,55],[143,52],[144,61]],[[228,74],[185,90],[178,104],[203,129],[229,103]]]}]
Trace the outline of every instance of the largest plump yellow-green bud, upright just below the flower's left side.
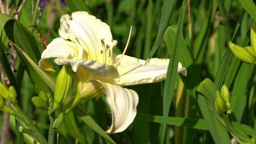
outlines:
[{"label": "largest plump yellow-green bud, upright just below the flower's left side", "polygon": [[58,74],[54,92],[53,110],[56,111],[68,95],[72,85],[72,70],[70,65],[64,65]]}]

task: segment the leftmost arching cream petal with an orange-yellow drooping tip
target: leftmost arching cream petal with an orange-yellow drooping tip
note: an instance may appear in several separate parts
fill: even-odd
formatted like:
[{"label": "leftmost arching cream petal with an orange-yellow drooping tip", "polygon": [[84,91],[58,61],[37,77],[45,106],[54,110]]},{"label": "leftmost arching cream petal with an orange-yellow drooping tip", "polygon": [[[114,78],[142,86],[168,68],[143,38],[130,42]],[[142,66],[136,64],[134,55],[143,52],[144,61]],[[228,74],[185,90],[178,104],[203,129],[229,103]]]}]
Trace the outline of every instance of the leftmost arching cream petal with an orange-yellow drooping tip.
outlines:
[{"label": "leftmost arching cream petal with an orange-yellow drooping tip", "polygon": [[[66,57],[77,61],[77,55],[78,49],[73,42],[64,40],[63,38],[55,38],[42,53],[41,60],[39,61],[38,65],[40,68],[48,70],[49,65],[44,62],[45,59]],[[63,65],[61,63],[57,64]]]}]

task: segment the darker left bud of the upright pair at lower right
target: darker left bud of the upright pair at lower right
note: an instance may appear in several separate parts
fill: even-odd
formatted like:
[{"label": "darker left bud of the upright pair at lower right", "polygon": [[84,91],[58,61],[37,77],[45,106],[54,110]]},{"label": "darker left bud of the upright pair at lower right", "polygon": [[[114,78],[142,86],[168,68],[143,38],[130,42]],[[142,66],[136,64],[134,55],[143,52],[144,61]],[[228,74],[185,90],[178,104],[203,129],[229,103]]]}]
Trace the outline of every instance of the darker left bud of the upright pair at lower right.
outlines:
[{"label": "darker left bud of the upright pair at lower right", "polygon": [[216,92],[215,109],[219,114],[225,114],[227,110],[226,102],[219,91]]}]

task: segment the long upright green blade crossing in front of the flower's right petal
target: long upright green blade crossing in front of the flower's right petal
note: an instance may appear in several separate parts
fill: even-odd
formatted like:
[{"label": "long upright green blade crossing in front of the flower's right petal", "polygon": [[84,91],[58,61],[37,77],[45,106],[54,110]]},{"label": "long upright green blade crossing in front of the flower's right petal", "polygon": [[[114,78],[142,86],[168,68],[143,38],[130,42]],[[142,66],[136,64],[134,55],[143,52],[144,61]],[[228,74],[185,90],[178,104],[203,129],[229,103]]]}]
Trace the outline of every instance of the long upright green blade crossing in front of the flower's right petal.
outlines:
[{"label": "long upright green blade crossing in front of the flower's right petal", "polygon": [[177,34],[175,36],[175,42],[170,57],[170,62],[166,74],[166,81],[164,84],[164,97],[163,97],[163,130],[162,130],[162,143],[164,142],[164,135],[166,132],[167,118],[172,101],[172,95],[174,92],[174,84],[177,76],[178,60],[180,57],[180,47],[182,38],[182,28],[185,15],[185,6],[182,4],[180,17],[178,20]]}]

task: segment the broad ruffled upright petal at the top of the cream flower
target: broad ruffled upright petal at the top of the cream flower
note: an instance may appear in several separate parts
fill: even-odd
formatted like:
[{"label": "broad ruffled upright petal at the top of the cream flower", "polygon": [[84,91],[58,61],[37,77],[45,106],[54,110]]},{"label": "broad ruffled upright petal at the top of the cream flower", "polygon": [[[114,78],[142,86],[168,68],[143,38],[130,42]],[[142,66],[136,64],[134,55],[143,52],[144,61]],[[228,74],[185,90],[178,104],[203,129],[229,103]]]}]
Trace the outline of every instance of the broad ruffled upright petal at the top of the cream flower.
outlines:
[{"label": "broad ruffled upright petal at the top of the cream flower", "polygon": [[71,17],[72,20],[69,15],[62,16],[59,34],[62,38],[69,39],[84,48],[88,57],[83,59],[102,60],[101,50],[105,52],[101,43],[103,39],[105,46],[108,44],[112,53],[112,48],[116,46],[117,41],[112,39],[110,27],[106,23],[87,12],[73,12]]}]

